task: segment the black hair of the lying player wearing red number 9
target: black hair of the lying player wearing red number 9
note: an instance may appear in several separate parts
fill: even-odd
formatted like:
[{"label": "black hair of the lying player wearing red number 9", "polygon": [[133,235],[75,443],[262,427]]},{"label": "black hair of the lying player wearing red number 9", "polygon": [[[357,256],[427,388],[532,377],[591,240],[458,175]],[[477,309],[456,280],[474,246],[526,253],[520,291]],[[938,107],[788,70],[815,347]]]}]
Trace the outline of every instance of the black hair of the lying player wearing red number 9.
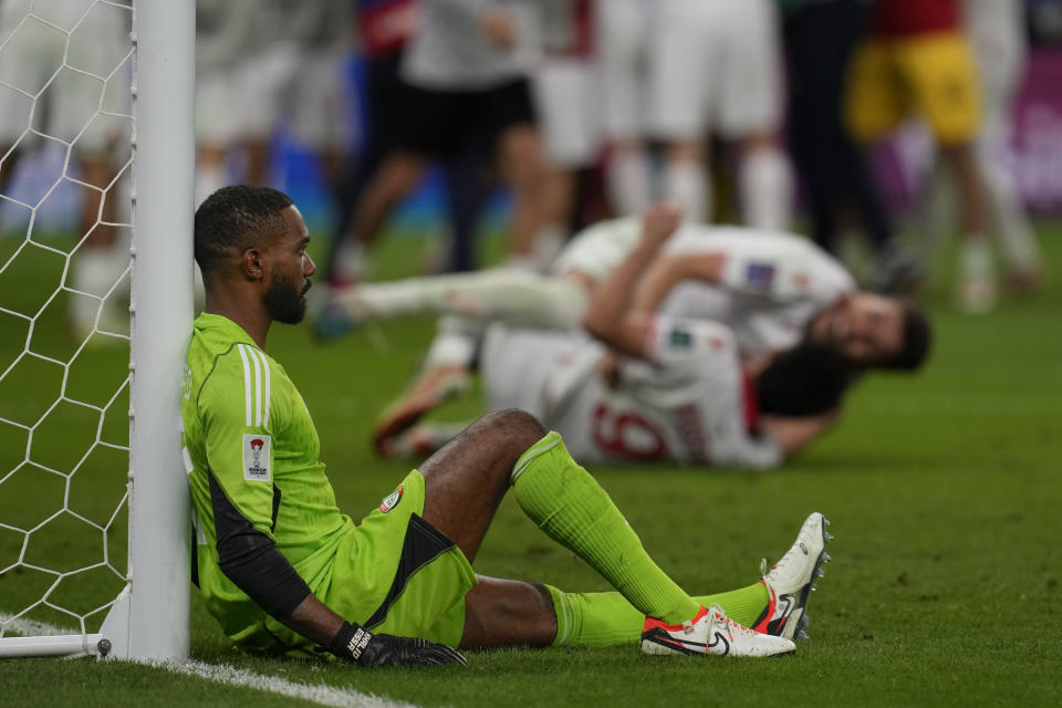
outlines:
[{"label": "black hair of the lying player wearing red number 9", "polygon": [[836,408],[856,369],[832,346],[801,343],[778,354],[756,379],[760,413],[814,416]]}]

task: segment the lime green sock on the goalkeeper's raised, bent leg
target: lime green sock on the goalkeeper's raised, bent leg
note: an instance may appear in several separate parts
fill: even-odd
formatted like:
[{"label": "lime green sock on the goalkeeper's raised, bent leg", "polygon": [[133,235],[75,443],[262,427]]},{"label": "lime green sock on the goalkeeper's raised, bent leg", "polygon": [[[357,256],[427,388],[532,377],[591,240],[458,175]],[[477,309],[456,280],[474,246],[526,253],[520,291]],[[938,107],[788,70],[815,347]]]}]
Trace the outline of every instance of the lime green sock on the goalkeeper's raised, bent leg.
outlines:
[{"label": "lime green sock on the goalkeeper's raised, bent leg", "polygon": [[601,573],[638,612],[671,624],[697,614],[700,603],[657,568],[605,490],[569,455],[560,435],[550,433],[528,449],[511,479],[524,513]]}]

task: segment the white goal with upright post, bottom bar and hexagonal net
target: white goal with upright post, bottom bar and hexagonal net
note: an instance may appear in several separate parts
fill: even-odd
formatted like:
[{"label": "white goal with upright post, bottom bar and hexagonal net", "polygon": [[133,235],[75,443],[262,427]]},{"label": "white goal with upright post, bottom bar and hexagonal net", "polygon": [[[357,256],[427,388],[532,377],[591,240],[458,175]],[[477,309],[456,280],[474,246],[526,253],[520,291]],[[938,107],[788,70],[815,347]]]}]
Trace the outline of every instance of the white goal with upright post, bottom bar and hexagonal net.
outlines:
[{"label": "white goal with upright post, bottom bar and hexagonal net", "polygon": [[[23,0],[23,3],[28,8],[25,17],[32,21],[23,24],[34,24],[52,33],[62,30],[43,14],[39,17],[37,3],[32,0]],[[122,8],[128,11],[129,8],[128,0],[84,0],[82,4],[87,8],[82,20],[96,6],[107,10]],[[59,396],[50,405],[42,404],[43,413],[40,415],[35,410],[27,413],[17,408],[9,414],[8,408],[0,407],[0,436],[7,436],[0,437],[0,445],[10,438],[24,448],[24,455],[18,451],[18,455],[4,458],[15,460],[10,469],[0,465],[0,499],[4,492],[13,494],[21,490],[44,497],[44,490],[51,483],[49,480],[56,480],[55,483],[61,487],[61,493],[56,497],[60,506],[54,513],[49,510],[48,513],[38,514],[38,518],[28,512],[22,514],[25,520],[22,517],[19,520],[6,519],[0,513],[0,551],[11,555],[0,558],[0,597],[7,594],[4,587],[17,586],[27,576],[44,579],[41,581],[44,590],[40,600],[21,610],[4,607],[0,601],[0,657],[96,655],[165,660],[185,658],[189,652],[189,500],[178,430],[185,353],[192,320],[195,3],[133,0],[132,42],[129,364],[128,377],[118,386],[118,391],[110,394],[105,403],[77,399],[69,384],[72,369],[79,367],[86,356],[90,339],[97,334],[112,336],[103,326],[101,312],[107,300],[121,290],[119,283],[113,283],[104,293],[85,293],[72,287],[67,272],[74,260],[82,256],[87,235],[70,250],[52,247],[45,239],[34,235],[40,204],[54,191],[54,187],[40,202],[23,202],[8,197],[0,201],[25,207],[30,215],[24,241],[14,249],[13,254],[8,256],[10,249],[3,251],[0,279],[10,274],[14,270],[11,264],[18,263],[25,253],[43,252],[50,258],[54,257],[56,262],[65,263],[56,271],[61,278],[60,285],[39,309],[34,309],[38,308],[35,303],[20,309],[0,302],[0,333],[3,333],[4,326],[12,330],[24,327],[28,332],[22,351],[12,348],[10,362],[4,358],[8,356],[7,350],[0,347],[0,386],[7,386],[23,369],[35,371],[28,367],[40,362],[62,372]],[[71,67],[70,46],[67,37],[62,54],[62,71],[55,75],[63,71],[77,76],[86,74],[102,81],[104,86],[114,80],[117,70],[100,75]],[[0,52],[4,51],[13,53],[17,44],[0,44]],[[4,147],[8,149],[6,154],[0,150],[0,158],[12,155],[25,135],[44,140],[51,138],[38,132],[33,112],[38,100],[54,83],[53,79],[54,75],[39,94],[19,90],[20,95],[24,94],[34,107],[28,114],[30,123],[25,133],[15,142],[14,148]],[[0,85],[11,88],[13,84],[4,83],[0,76]],[[103,106],[102,97],[100,103],[95,117],[114,115]],[[91,121],[86,126],[91,126]],[[67,164],[73,145],[87,129],[82,128],[71,139],[55,139],[66,146]],[[66,181],[88,192],[102,191],[103,197],[97,197],[101,205],[104,199],[116,198],[117,189],[111,188],[113,184],[102,190],[88,189],[92,185],[69,177],[67,164],[63,165],[63,178]],[[128,226],[110,223],[102,216],[103,212],[101,206],[96,226]],[[35,348],[39,336],[34,332],[43,326],[42,321],[46,321],[53,301],[63,302],[65,298],[73,300],[86,294],[94,299],[92,302],[96,304],[93,306],[98,305],[90,337],[69,356],[39,353]],[[23,334],[22,329],[18,332],[20,336]],[[126,339],[121,334],[113,336]],[[25,376],[29,377],[29,374]],[[14,387],[14,384],[11,386]],[[108,441],[102,433],[106,427],[107,414],[122,413],[115,410],[115,402],[123,400],[124,394],[127,394],[129,402],[127,446]],[[52,425],[50,416],[54,418],[53,413],[63,407],[75,412],[91,410],[92,416],[98,415],[98,423],[93,424],[93,441],[87,451],[74,455],[76,461],[71,462],[70,467],[41,461],[40,458],[46,457],[46,454],[38,445],[45,428]],[[86,506],[74,499],[75,489],[79,488],[80,476],[84,476],[92,466],[90,462],[95,461],[94,455],[115,451],[118,456],[127,452],[127,462],[123,465],[119,459],[110,466],[96,467],[107,467],[106,475],[127,476],[125,503],[119,499],[117,509],[103,512],[102,520],[94,519],[92,513],[85,511]],[[84,489],[84,483],[80,488]],[[14,504],[13,501],[0,503],[0,512],[13,509]],[[113,545],[113,539],[123,535],[115,532],[114,524],[124,513],[128,517],[128,560],[127,568],[121,569],[114,559],[121,553],[108,543]],[[53,569],[31,558],[34,537],[44,534],[49,524],[61,525],[64,519],[75,533],[87,530],[88,535],[102,535],[102,561],[70,561]],[[62,546],[61,540],[56,543]],[[100,607],[81,613],[53,600],[60,585],[73,576],[96,571],[114,575],[123,570],[124,587],[117,597],[104,602]],[[71,634],[59,634],[54,632],[54,626],[31,618],[31,611],[38,607],[79,626],[61,626],[63,632]],[[98,631],[87,631],[90,625],[95,628],[102,613],[106,613],[106,616]]]}]

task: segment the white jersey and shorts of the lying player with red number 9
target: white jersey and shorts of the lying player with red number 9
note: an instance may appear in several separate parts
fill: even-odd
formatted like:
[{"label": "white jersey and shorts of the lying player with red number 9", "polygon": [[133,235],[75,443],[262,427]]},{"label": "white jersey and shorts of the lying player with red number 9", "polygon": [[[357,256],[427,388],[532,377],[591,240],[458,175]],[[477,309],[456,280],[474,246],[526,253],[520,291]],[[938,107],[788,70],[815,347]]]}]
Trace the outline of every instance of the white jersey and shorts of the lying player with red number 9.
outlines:
[{"label": "white jersey and shorts of the lying player with red number 9", "polygon": [[625,362],[610,384],[606,350],[585,335],[491,325],[481,360],[488,407],[529,410],[587,462],[778,465],[774,441],[750,431],[754,405],[730,330],[660,316],[653,336],[652,363]]}]

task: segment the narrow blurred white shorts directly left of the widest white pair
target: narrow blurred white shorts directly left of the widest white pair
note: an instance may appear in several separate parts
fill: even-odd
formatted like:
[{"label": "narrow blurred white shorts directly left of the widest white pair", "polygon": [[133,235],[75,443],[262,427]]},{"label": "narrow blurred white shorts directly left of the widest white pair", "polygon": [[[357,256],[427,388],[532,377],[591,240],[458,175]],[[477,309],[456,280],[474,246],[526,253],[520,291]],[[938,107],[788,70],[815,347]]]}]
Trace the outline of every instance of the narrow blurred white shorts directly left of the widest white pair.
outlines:
[{"label": "narrow blurred white shorts directly left of the widest white pair", "polygon": [[642,137],[648,97],[650,0],[606,0],[596,6],[602,129],[610,138]]}]

